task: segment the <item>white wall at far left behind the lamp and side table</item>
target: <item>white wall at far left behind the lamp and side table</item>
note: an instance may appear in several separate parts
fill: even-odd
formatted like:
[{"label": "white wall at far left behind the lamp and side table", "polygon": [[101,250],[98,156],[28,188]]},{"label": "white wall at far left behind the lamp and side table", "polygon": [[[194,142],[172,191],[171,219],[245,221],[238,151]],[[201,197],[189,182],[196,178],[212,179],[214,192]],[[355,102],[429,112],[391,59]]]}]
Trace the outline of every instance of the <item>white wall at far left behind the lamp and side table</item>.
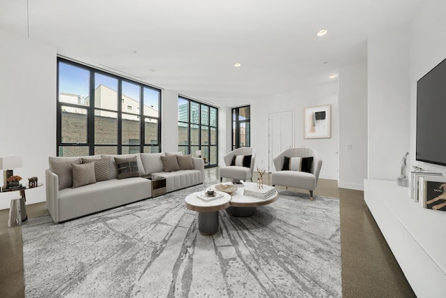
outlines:
[{"label": "white wall at far left behind the lamp and side table", "polygon": [[[22,156],[22,184],[45,183],[56,155],[56,47],[0,29],[0,156]],[[3,174],[0,178],[3,184]],[[0,209],[20,194],[0,194]],[[26,191],[26,204],[45,201],[45,186]]]}]

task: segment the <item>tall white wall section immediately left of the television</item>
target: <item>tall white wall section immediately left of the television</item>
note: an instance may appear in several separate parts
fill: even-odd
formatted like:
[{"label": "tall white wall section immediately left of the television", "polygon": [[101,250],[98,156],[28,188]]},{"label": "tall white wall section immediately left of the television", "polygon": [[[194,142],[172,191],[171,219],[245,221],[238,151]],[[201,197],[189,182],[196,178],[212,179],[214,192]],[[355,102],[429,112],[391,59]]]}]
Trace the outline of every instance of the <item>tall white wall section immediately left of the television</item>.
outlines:
[{"label": "tall white wall section immediately left of the television", "polygon": [[406,24],[367,42],[369,179],[396,181],[409,151],[408,32]]}]

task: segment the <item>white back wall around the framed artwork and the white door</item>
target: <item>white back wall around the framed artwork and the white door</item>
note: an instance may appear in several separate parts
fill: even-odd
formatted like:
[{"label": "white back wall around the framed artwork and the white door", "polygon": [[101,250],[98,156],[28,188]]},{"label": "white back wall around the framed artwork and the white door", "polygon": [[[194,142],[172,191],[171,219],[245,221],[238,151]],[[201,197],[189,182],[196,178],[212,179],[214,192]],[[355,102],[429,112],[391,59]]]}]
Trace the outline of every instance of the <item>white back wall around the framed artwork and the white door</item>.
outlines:
[{"label": "white back wall around the framed artwork and the white door", "polygon": [[[337,103],[337,82],[307,89],[289,91],[259,98],[251,103],[251,144],[256,148],[256,166],[268,168],[268,114],[293,111],[294,146],[312,147],[323,159],[321,174],[323,179],[337,179],[337,144],[339,137],[339,117]],[[331,105],[332,130],[330,139],[304,139],[303,115],[305,107]]]}]

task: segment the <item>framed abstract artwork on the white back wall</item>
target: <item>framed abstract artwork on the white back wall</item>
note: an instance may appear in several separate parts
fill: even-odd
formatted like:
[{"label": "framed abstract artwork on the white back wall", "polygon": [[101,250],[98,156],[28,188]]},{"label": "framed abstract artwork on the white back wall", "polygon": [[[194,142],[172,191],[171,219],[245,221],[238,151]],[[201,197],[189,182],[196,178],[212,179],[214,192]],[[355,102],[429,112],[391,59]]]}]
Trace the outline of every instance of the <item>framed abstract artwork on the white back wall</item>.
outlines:
[{"label": "framed abstract artwork on the white back wall", "polygon": [[329,139],[331,137],[331,105],[305,107],[304,139]]}]

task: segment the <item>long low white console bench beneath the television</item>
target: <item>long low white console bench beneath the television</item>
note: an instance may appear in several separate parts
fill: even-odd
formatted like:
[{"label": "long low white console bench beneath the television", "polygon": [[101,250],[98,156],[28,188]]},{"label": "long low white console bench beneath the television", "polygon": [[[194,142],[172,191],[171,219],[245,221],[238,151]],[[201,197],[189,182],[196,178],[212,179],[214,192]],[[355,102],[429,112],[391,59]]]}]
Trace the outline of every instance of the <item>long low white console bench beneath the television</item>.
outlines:
[{"label": "long low white console bench beneath the television", "polygon": [[420,207],[397,181],[364,179],[364,200],[417,297],[446,297],[446,211]]}]

